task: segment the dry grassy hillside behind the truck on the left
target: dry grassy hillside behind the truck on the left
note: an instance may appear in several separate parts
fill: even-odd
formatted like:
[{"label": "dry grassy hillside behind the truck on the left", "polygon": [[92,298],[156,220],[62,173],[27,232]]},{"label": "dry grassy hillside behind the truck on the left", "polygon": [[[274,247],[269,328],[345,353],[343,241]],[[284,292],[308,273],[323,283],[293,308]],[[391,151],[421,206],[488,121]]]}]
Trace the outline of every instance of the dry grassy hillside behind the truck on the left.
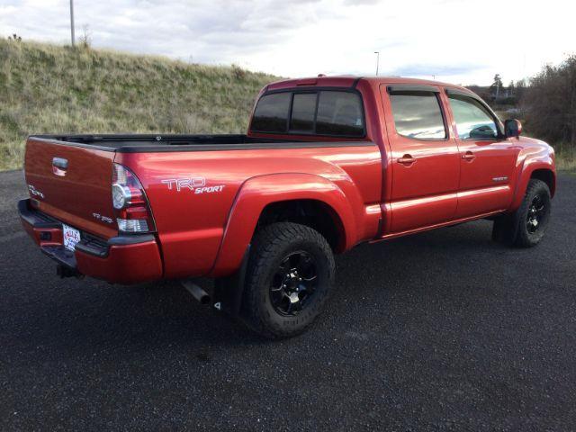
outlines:
[{"label": "dry grassy hillside behind the truck on the left", "polygon": [[0,169],[32,133],[235,133],[277,79],[110,50],[0,40]]}]

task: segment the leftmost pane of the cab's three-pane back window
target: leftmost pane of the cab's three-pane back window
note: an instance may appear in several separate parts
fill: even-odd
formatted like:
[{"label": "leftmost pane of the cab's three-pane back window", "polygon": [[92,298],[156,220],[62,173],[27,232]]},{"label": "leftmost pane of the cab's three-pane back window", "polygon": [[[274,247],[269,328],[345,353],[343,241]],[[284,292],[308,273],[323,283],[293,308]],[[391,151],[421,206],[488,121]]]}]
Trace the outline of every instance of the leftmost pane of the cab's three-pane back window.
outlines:
[{"label": "leftmost pane of the cab's three-pane back window", "polygon": [[290,112],[290,93],[266,94],[258,101],[252,129],[262,132],[284,132]]}]

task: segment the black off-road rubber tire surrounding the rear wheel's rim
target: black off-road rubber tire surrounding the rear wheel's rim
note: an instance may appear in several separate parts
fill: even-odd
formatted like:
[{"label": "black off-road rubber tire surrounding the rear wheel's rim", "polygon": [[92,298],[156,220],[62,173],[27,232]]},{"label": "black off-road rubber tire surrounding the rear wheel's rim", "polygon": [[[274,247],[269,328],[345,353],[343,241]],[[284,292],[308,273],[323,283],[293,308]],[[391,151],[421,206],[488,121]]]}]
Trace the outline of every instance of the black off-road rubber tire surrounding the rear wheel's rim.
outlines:
[{"label": "black off-road rubber tire surrounding the rear wheel's rim", "polygon": [[[277,222],[259,229],[252,244],[242,299],[247,326],[266,338],[291,338],[302,333],[323,310],[334,283],[334,256],[328,241],[310,227]],[[316,288],[298,315],[284,316],[275,310],[270,287],[285,257],[300,251],[315,260]]]}]

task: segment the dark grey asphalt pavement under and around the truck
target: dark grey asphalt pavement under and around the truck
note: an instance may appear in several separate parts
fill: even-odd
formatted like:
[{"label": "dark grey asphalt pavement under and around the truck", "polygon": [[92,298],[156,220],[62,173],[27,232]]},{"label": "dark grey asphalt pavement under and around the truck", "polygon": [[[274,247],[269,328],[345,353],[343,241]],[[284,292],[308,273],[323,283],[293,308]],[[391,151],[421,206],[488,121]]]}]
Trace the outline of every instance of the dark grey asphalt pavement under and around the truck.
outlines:
[{"label": "dark grey asphalt pavement under and around the truck", "polygon": [[0,429],[576,429],[576,175],[544,242],[481,220],[337,258],[328,310],[269,342],[174,283],[60,280],[0,174]]}]

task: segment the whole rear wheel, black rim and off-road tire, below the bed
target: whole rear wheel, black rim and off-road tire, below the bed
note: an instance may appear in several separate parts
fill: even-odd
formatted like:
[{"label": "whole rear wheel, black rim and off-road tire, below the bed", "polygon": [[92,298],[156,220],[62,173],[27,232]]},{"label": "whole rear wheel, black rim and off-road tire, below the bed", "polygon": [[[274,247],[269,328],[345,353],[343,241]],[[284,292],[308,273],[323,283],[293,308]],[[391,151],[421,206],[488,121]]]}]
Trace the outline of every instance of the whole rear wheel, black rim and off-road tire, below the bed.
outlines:
[{"label": "whole rear wheel, black rim and off-road tire, below the bed", "polygon": [[315,229],[291,222],[260,229],[243,298],[248,326],[267,338],[302,333],[328,300],[334,274],[332,250]]}]

